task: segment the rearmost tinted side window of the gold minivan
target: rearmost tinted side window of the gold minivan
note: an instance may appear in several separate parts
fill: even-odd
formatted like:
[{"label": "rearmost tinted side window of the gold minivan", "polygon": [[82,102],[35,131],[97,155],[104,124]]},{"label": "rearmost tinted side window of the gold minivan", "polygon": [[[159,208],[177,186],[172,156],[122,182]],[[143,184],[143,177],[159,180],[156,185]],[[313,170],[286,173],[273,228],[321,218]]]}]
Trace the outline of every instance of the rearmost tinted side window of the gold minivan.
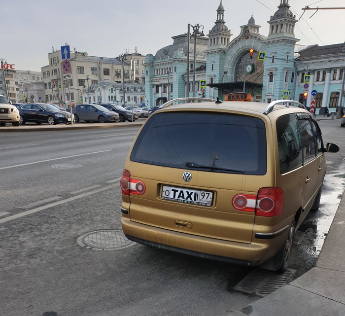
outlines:
[{"label": "rearmost tinted side window of the gold minivan", "polygon": [[281,116],[276,121],[280,173],[302,166],[302,144],[295,114]]}]

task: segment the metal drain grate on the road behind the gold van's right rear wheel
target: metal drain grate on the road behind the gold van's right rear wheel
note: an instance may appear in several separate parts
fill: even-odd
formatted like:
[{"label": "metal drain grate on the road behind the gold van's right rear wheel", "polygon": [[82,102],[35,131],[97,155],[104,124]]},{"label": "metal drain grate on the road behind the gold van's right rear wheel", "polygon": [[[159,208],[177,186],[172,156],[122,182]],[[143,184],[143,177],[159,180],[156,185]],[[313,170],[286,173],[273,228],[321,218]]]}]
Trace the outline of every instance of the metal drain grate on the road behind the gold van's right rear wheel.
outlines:
[{"label": "metal drain grate on the road behind the gold van's right rear wheel", "polygon": [[296,270],[287,269],[284,273],[278,274],[273,271],[256,268],[250,272],[234,289],[264,297],[276,291],[279,287],[286,285],[295,275]]}]

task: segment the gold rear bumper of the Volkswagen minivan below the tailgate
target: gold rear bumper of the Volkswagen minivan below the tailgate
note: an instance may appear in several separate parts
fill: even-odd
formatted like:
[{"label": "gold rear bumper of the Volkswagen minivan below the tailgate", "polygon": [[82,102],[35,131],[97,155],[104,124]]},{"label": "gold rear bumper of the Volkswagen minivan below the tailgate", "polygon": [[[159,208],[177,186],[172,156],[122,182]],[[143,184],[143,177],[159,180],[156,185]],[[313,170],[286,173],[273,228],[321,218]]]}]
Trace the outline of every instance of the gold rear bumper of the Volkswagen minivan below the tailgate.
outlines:
[{"label": "gold rear bumper of the Volkswagen minivan below the tailgate", "polygon": [[122,216],[121,223],[126,237],[140,244],[244,266],[258,266],[272,258],[285,240],[285,234],[281,234],[244,244],[148,226],[127,216]]}]

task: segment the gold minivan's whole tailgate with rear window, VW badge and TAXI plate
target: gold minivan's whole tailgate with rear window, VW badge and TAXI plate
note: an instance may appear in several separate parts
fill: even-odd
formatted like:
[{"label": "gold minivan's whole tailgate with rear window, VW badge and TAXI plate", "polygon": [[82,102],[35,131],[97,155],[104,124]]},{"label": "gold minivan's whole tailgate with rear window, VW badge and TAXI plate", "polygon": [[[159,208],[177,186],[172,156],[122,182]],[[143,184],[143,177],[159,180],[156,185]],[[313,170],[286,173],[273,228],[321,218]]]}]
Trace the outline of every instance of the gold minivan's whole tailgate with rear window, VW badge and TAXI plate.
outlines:
[{"label": "gold minivan's whole tailgate with rear window, VW badge and TAXI plate", "polygon": [[157,113],[143,126],[129,163],[131,178],[146,187],[130,197],[132,221],[251,243],[254,208],[236,210],[232,199],[256,195],[271,184],[261,119],[207,111]]}]

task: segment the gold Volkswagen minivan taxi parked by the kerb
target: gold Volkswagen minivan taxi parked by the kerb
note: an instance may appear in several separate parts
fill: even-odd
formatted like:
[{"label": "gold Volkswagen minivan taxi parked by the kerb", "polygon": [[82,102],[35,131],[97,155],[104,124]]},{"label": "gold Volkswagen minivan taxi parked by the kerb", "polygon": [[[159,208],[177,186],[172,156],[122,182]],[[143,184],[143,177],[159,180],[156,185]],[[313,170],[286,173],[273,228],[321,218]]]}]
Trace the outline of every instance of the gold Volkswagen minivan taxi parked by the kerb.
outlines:
[{"label": "gold Volkswagen minivan taxi parked by the kerb", "polygon": [[324,146],[296,101],[178,101],[150,115],[132,144],[120,181],[124,234],[284,272],[295,231],[319,207],[324,152],[339,147]]}]

